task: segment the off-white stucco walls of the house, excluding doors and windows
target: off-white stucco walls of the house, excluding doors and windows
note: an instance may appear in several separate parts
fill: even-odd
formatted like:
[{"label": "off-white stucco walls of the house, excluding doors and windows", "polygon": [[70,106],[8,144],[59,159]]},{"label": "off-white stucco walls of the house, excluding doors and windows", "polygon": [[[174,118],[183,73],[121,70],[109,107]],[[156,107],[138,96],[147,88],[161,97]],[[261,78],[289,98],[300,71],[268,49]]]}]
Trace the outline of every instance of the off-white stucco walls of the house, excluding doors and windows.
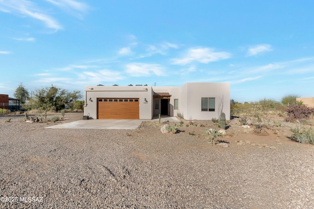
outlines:
[{"label": "off-white stucco walls of the house, excluding doors and windows", "polygon": [[[230,83],[186,83],[182,87],[86,86],[84,115],[97,118],[98,98],[139,98],[139,118],[151,119],[153,115],[160,113],[161,107],[159,99],[159,109],[155,110],[154,92],[171,95],[168,105],[169,116],[177,116],[180,112],[184,119],[218,118],[218,106],[223,98],[222,112],[226,114],[227,120],[230,119]],[[202,111],[202,97],[215,98],[215,111]],[[174,99],[179,101],[179,110],[174,110]]]}]

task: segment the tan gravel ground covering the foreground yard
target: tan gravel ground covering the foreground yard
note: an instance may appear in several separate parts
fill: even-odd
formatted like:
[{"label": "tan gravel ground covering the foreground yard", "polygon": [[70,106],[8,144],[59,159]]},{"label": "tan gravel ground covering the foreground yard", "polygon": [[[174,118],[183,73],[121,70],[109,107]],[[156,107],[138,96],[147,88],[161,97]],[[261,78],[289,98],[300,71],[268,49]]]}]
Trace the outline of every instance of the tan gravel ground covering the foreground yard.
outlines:
[{"label": "tan gravel ground covering the foreground yard", "polygon": [[[65,117],[57,124],[82,113]],[[0,116],[0,208],[314,208],[314,145],[279,129],[258,136],[232,125],[225,148],[200,134],[208,124],[178,134],[153,122],[44,128],[51,125]]]}]

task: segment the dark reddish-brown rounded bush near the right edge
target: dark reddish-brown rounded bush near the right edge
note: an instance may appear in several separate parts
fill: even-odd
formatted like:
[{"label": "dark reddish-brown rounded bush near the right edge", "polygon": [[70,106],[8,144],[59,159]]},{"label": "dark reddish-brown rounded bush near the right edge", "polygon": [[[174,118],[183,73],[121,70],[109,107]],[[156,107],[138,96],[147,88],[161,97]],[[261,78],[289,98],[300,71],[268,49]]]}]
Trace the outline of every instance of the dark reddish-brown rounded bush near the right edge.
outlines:
[{"label": "dark reddish-brown rounded bush near the right edge", "polygon": [[312,115],[314,115],[314,108],[306,105],[291,104],[286,109],[286,112],[288,114],[288,120],[309,119]]}]

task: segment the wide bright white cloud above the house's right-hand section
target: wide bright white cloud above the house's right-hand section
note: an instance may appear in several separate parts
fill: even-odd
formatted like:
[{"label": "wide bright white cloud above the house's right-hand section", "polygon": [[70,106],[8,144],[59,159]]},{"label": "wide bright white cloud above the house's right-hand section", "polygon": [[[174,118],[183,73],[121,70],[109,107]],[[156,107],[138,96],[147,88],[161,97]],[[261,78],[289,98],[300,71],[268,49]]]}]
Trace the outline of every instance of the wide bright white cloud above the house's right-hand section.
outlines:
[{"label": "wide bright white cloud above the house's right-hand section", "polygon": [[214,49],[208,47],[190,48],[183,58],[173,59],[174,65],[186,65],[192,62],[200,62],[207,64],[219,60],[228,59],[231,54],[228,52],[215,52]]}]

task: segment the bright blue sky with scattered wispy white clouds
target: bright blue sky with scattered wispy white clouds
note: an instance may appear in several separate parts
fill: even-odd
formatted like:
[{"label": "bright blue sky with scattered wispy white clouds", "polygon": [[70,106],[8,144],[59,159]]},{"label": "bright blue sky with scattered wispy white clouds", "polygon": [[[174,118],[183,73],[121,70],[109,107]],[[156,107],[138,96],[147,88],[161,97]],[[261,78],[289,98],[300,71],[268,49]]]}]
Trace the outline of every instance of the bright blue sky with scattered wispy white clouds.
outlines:
[{"label": "bright blue sky with scattered wispy white clouds", "polygon": [[313,11],[311,0],[0,0],[0,93],[230,82],[239,102],[313,97]]}]

